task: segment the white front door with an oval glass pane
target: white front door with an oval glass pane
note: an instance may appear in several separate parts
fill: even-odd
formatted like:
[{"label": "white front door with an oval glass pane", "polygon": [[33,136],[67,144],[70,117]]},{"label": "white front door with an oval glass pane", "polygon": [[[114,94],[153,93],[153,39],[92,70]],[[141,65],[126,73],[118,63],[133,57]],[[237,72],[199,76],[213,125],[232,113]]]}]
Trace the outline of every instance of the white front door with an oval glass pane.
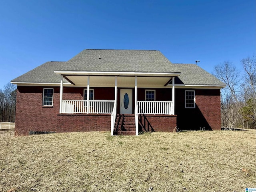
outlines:
[{"label": "white front door with an oval glass pane", "polygon": [[120,89],[120,114],[132,114],[132,89]]}]

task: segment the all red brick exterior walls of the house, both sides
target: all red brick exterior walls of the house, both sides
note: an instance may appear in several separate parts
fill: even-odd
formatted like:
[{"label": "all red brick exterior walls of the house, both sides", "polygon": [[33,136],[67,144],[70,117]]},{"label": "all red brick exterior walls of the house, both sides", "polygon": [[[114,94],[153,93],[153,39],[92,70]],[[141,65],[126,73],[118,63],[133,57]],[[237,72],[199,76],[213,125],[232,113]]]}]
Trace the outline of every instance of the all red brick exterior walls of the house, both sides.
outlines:
[{"label": "all red brick exterior walls of the house, both sides", "polygon": [[[53,106],[42,106],[43,88],[54,88]],[[83,90],[83,87],[64,87],[63,99],[83,99]],[[120,89],[118,88],[118,90]],[[166,94],[164,94],[165,90]],[[185,108],[185,89],[175,89],[175,114],[177,116],[168,118],[170,116],[147,115],[146,119],[141,116],[141,128],[153,128],[154,131],[172,131],[177,122],[180,129],[200,130],[204,127],[206,130],[220,130],[220,90],[192,90],[196,91],[196,108]],[[144,98],[145,89],[139,88],[138,100],[144,100]],[[157,100],[168,100],[168,98],[171,98],[170,89],[156,89]],[[94,88],[94,99],[114,100],[114,88]],[[18,86],[16,135],[27,135],[30,130],[56,132],[110,130],[111,118],[109,114],[98,116],[94,114],[59,114],[59,102],[59,87]]]}]

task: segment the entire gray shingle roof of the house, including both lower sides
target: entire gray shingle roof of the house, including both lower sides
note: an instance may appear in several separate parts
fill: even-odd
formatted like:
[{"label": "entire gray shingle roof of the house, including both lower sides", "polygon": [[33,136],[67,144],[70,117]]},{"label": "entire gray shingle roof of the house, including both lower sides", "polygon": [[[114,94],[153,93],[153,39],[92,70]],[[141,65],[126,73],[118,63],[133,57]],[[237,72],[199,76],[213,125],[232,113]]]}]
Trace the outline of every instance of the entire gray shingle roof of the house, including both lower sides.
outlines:
[{"label": "entire gray shingle roof of the house, including both lower sides", "polygon": [[54,70],[181,72],[179,78],[184,84],[225,85],[196,64],[172,64],[160,51],[96,49],[83,50],[67,62],[46,62],[11,82],[59,83],[60,75],[55,74]]}]

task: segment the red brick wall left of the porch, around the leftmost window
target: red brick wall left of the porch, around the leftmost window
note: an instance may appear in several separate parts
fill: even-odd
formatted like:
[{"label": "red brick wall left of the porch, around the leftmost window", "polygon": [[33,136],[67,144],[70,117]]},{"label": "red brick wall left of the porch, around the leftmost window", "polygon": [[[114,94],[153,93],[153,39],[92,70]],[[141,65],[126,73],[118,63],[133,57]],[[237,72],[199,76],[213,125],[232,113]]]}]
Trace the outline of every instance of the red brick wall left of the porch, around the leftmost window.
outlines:
[{"label": "red brick wall left of the porch, around the leftmost window", "polygon": [[43,107],[42,96],[43,87],[18,86],[15,119],[16,135],[27,135],[30,130],[43,131],[56,128],[60,88],[54,88],[53,107]]}]

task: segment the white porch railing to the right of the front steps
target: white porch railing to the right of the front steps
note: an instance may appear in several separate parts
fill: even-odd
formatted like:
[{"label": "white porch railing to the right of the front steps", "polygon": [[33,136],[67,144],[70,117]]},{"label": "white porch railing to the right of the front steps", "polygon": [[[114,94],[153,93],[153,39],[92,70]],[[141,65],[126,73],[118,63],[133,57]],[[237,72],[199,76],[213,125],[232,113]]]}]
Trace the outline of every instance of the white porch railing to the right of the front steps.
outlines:
[{"label": "white porch railing to the right of the front steps", "polygon": [[138,114],[172,114],[172,101],[137,101]]}]

